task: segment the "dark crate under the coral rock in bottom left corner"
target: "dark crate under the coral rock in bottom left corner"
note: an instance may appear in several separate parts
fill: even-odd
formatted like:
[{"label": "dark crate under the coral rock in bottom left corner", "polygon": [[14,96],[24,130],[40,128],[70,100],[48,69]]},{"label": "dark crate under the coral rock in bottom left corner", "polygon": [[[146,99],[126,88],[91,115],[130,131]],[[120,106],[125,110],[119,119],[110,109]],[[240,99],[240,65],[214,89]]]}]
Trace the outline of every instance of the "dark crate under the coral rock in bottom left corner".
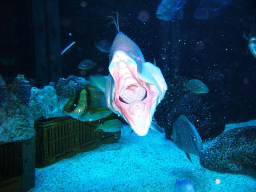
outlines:
[{"label": "dark crate under the coral rock in bottom left corner", "polygon": [[28,191],[35,186],[35,137],[0,143],[0,191]]}]

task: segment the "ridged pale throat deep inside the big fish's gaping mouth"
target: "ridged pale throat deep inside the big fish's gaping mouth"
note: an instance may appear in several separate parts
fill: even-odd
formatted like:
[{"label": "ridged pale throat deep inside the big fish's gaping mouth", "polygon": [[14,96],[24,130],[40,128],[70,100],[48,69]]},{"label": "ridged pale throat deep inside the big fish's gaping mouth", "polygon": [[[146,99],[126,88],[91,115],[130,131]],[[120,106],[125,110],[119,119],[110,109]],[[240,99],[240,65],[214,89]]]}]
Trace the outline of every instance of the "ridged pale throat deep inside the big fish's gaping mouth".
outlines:
[{"label": "ridged pale throat deep inside the big fish's gaping mouth", "polygon": [[129,85],[120,92],[120,97],[125,103],[131,104],[134,101],[141,101],[146,96],[146,90],[140,85]]}]

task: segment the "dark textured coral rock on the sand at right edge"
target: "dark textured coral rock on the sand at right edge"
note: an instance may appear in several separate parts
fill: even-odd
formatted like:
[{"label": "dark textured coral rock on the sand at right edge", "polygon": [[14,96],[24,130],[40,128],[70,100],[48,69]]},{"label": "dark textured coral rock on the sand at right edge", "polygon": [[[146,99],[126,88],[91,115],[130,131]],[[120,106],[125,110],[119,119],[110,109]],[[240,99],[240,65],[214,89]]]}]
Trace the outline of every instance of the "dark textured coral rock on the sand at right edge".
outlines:
[{"label": "dark textured coral rock on the sand at right edge", "polygon": [[204,150],[205,168],[222,172],[256,175],[256,127],[223,132]]}]

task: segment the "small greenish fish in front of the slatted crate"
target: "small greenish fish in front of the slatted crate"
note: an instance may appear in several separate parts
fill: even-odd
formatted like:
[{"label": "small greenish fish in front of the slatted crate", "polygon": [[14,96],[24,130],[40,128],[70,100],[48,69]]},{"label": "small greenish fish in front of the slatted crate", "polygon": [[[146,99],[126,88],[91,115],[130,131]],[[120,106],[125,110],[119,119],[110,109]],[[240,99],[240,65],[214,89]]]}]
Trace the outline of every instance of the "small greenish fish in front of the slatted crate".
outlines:
[{"label": "small greenish fish in front of the slatted crate", "polygon": [[123,129],[124,125],[118,119],[105,121],[102,125],[98,125],[97,128],[93,131],[102,130],[104,132],[118,132]]}]

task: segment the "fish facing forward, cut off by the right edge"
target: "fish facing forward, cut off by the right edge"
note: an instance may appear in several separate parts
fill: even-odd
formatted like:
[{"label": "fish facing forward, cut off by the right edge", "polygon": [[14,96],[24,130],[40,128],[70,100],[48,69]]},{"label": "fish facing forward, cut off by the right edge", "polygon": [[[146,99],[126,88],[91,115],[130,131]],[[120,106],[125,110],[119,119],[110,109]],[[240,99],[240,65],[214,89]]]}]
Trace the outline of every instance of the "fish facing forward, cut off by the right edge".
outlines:
[{"label": "fish facing forward, cut off by the right edge", "polygon": [[252,55],[256,58],[256,12],[254,12],[252,17],[252,26],[249,37],[245,36],[245,32],[243,37],[248,41],[248,48],[250,49]]}]

